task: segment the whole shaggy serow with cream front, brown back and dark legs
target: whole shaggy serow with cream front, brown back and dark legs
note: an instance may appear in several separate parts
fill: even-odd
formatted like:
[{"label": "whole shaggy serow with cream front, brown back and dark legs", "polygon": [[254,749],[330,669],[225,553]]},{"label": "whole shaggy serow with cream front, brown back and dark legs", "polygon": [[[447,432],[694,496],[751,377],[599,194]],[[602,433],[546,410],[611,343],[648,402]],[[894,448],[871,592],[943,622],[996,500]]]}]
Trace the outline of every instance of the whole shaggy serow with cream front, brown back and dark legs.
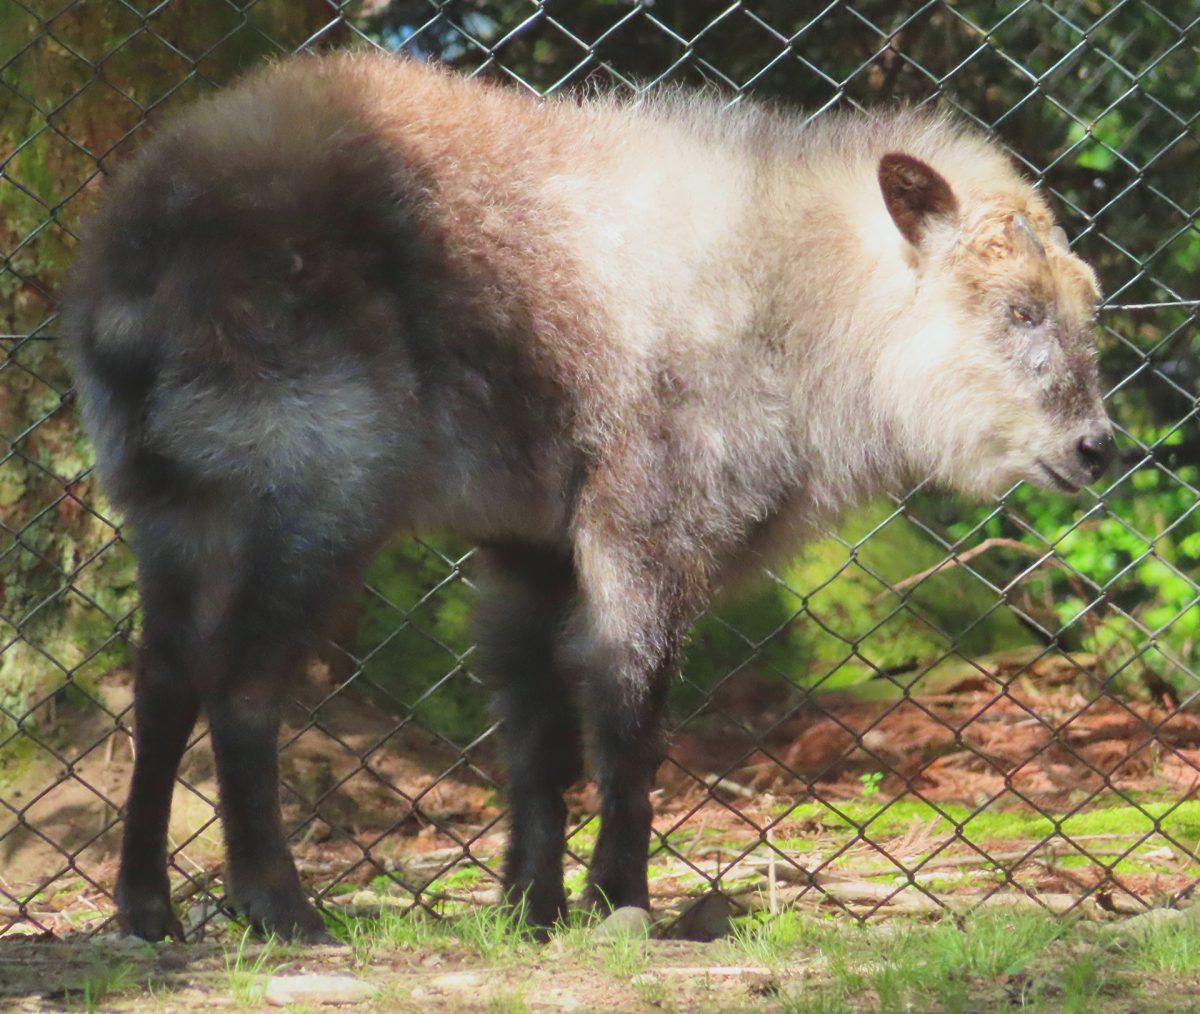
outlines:
[{"label": "whole shaggy serow with cream front, brown back and dark legs", "polygon": [[931,476],[1076,488],[1111,439],[1092,271],[983,138],[667,95],[535,103],[380,55],[274,66],[110,184],[67,305],[145,605],[121,924],[179,935],[172,779],[209,718],[228,888],[322,932],[277,817],[280,696],[390,533],[484,546],[506,889],[647,905],[664,697],[712,589]]}]

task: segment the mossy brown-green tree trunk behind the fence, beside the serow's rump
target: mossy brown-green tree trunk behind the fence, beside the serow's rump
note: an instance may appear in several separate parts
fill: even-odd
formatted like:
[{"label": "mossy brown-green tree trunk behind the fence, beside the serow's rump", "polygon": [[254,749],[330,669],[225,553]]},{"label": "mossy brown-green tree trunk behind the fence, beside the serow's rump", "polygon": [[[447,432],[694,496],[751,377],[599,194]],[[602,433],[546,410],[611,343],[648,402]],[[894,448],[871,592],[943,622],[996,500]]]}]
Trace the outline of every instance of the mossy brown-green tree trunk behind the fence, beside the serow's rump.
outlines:
[{"label": "mossy brown-green tree trunk behind the fence, beside the serow's rump", "polygon": [[96,162],[119,161],[148,116],[276,53],[272,40],[299,44],[326,13],[318,0],[262,0],[246,12],[166,5],[143,19],[95,2],[55,8],[47,31],[29,5],[0,4],[0,736],[18,721],[44,725],[46,702],[72,686],[96,695],[128,654],[133,562],[92,482],[54,341],[54,298],[95,200]]}]

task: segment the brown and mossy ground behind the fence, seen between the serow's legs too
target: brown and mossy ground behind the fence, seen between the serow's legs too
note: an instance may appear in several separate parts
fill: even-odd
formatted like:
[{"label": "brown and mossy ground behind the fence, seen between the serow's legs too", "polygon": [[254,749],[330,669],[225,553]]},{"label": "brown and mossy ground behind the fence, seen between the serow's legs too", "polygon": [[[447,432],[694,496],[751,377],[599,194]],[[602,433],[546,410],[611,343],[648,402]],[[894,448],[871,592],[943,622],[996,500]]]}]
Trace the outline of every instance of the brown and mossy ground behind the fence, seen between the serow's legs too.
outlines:
[{"label": "brown and mossy ground behind the fence, seen between the serow's legs too", "polygon": [[[656,908],[682,913],[718,886],[744,908],[857,918],[971,911],[997,895],[1120,914],[1188,895],[1200,872],[1200,716],[1099,696],[1094,679],[1018,653],[911,695],[877,680],[870,700],[738,680],[684,725],[660,772]],[[116,713],[124,686],[104,688]],[[282,750],[308,887],[347,913],[414,895],[445,912],[491,904],[504,841],[493,739],[460,754],[331,689],[317,679],[298,702]],[[17,775],[0,772],[12,806],[0,816],[0,937],[110,926],[128,736],[96,713],[58,725],[66,731],[46,745],[68,767],[40,749]],[[173,878],[199,940],[221,893],[205,743],[182,781]],[[590,786],[569,802],[577,890],[598,806]]]}]

